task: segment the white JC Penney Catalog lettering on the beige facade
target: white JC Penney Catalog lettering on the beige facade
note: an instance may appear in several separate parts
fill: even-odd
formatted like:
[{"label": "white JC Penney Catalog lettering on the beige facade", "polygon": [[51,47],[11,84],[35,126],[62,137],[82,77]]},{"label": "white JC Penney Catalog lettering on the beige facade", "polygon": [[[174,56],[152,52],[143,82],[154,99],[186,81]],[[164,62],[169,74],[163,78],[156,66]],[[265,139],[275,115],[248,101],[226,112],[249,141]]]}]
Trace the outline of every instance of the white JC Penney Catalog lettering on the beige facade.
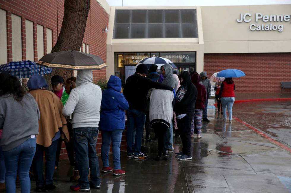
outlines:
[{"label": "white JC Penney Catalog lettering on the beige facade", "polygon": [[[290,22],[290,14],[287,15],[263,15],[262,13],[256,13],[255,15],[255,22],[263,21],[265,24],[259,24],[251,23],[249,25],[249,29],[251,31],[283,31],[283,25],[281,25],[281,22]],[[252,21],[252,14],[245,13],[240,14],[240,17],[236,20],[238,23],[246,22],[249,23]],[[272,23],[271,23],[272,22]],[[277,22],[280,22],[280,25],[277,24]]]}]

